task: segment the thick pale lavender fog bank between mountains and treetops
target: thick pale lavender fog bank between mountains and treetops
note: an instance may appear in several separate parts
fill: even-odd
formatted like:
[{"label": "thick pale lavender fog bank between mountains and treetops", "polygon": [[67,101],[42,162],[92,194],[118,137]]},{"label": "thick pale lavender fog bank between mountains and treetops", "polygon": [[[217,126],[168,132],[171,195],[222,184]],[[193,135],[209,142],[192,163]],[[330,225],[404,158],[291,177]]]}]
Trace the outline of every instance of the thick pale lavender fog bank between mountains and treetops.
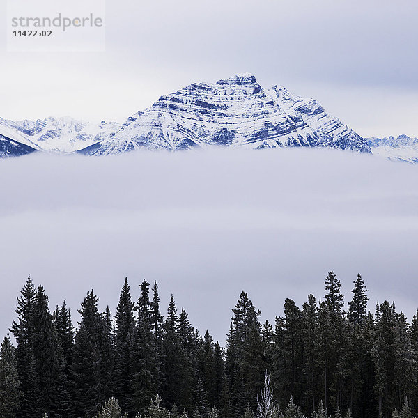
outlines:
[{"label": "thick pale lavender fog bank between mountains and treetops", "polygon": [[323,297],[334,270],[346,302],[358,272],[376,301],[418,307],[418,167],[326,150],[218,150],[1,161],[0,334],[30,274],[50,308],[94,289],[115,312],[123,279],[170,293],[224,343],[242,289],[262,320],[286,297]]}]

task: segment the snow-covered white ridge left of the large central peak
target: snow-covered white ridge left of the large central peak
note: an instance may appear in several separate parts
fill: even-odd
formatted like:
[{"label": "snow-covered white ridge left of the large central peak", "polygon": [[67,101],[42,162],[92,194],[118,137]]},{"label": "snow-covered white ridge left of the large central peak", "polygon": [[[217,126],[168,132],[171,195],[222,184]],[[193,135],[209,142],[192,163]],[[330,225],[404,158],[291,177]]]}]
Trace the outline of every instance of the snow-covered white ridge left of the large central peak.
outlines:
[{"label": "snow-covered white ridge left of the large central peak", "polygon": [[70,117],[37,121],[8,121],[0,118],[0,134],[49,153],[73,153],[102,141],[120,128],[118,123],[99,124]]}]

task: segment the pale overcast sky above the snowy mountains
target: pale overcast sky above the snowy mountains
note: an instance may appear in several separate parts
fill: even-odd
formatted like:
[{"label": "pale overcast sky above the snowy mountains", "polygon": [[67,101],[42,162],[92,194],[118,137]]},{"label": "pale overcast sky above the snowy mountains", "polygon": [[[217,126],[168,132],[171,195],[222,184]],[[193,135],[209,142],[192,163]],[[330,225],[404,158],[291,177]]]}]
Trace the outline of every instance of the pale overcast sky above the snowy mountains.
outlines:
[{"label": "pale overcast sky above the snowy mountains", "polygon": [[[0,15],[6,0],[0,0]],[[6,52],[0,116],[124,121],[191,82],[252,72],[362,136],[418,137],[415,0],[107,2],[107,51]]]}]

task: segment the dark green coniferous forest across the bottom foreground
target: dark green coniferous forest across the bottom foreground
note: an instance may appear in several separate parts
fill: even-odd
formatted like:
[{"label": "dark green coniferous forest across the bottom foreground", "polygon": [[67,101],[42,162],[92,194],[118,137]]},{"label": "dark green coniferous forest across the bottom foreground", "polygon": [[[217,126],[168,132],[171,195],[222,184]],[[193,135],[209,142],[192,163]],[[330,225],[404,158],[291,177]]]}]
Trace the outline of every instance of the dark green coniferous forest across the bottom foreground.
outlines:
[{"label": "dark green coniferous forest across the bottom foreground", "polygon": [[408,323],[389,302],[371,314],[360,274],[347,304],[331,271],[325,296],[286,299],[274,324],[242,291],[226,347],[172,295],[163,316],[156,283],[139,286],[132,300],[125,279],[114,313],[88,291],[75,326],[27,279],[1,344],[0,417],[417,416],[417,316]]}]

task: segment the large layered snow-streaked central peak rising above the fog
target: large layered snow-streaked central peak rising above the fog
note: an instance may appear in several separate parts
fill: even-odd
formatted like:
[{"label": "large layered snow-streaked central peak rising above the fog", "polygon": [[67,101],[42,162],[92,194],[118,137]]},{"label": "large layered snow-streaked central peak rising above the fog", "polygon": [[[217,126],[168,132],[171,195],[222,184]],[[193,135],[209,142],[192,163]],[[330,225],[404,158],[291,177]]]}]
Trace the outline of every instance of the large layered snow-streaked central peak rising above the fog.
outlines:
[{"label": "large layered snow-streaked central peak rising above the fog", "polygon": [[214,84],[195,83],[163,95],[131,116],[115,134],[80,150],[110,155],[130,150],[326,147],[370,153],[366,141],[313,99],[245,73]]}]

